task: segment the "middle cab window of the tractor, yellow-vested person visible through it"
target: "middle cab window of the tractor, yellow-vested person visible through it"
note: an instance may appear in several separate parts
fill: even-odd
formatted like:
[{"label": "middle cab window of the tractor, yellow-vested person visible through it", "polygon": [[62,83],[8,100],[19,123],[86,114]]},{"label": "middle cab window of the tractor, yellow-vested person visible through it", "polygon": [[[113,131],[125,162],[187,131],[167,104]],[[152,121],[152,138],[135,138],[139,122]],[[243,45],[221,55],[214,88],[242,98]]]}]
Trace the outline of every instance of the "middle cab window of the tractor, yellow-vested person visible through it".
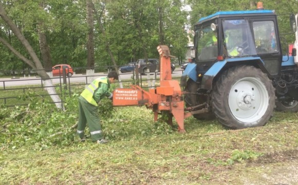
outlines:
[{"label": "middle cab window of the tractor, yellow-vested person visible through it", "polygon": [[229,57],[256,55],[252,33],[247,20],[224,20],[224,45]]}]

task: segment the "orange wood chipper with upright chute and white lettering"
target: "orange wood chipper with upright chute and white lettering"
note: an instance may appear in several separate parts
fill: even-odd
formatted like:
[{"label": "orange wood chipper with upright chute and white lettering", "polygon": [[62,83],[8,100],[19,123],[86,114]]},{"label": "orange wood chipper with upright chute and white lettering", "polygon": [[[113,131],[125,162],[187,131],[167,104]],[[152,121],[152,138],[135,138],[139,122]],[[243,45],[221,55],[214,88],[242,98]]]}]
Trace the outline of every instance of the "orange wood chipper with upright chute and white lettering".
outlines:
[{"label": "orange wood chipper with upright chute and white lettering", "polygon": [[173,116],[178,123],[178,131],[184,133],[185,118],[192,115],[184,113],[183,92],[177,80],[172,80],[170,50],[167,46],[158,46],[160,54],[160,86],[145,91],[138,85],[132,88],[117,88],[113,92],[114,106],[146,105],[154,112],[154,121],[157,121],[161,112],[169,113],[167,123],[173,126]]}]

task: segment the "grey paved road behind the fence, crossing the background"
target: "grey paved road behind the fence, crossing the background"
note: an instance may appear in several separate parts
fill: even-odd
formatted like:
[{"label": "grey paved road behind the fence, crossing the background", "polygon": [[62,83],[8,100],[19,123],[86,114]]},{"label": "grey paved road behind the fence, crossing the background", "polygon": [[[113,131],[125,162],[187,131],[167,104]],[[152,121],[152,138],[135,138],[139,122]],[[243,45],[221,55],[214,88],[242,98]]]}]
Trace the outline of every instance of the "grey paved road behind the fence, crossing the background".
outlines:
[{"label": "grey paved road behind the fence, crossing the background", "polygon": [[[106,76],[107,73],[95,73],[95,76]],[[133,73],[120,73],[120,77],[122,80],[131,79]],[[180,77],[182,75],[181,69],[176,69],[172,77]],[[150,77],[153,79],[155,78],[155,73],[152,73]],[[140,77],[139,77],[140,78]],[[142,75],[142,78],[147,78],[147,75]],[[159,78],[159,73],[157,73],[157,78]],[[71,78],[66,78],[67,83],[74,83],[74,82],[82,82],[88,83],[88,79],[86,75],[73,75]],[[60,77],[53,77],[53,83],[63,83],[63,78]],[[9,87],[9,86],[22,86],[22,85],[41,85],[42,80],[39,77],[23,77],[23,78],[7,78],[7,79],[0,79],[0,87]]]}]

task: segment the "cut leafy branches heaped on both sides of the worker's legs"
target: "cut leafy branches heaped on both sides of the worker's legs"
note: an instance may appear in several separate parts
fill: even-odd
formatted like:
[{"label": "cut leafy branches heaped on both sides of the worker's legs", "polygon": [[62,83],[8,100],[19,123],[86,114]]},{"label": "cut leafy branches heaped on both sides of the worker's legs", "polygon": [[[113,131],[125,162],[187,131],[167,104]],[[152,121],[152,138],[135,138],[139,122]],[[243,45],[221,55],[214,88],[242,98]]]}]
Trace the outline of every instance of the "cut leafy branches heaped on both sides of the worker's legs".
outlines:
[{"label": "cut leafy branches heaped on both sides of the worker's legs", "polygon": [[[54,145],[67,146],[76,143],[76,130],[71,127],[78,120],[78,97],[79,94],[76,93],[71,97],[64,97],[66,112],[55,108],[48,100],[40,100],[33,91],[19,97],[20,100],[29,100],[28,106],[3,107],[0,113],[2,147],[17,149],[27,145],[32,146],[33,150],[45,150]],[[139,107],[139,113],[133,119],[128,119],[127,114],[131,113],[121,108],[113,108],[111,100],[104,98],[98,110],[107,139],[125,139],[129,135],[128,130],[135,130],[133,132],[140,132],[143,136],[173,133],[163,119],[154,124],[145,124],[144,120],[152,120],[153,116],[145,107]],[[140,118],[139,114],[144,116]],[[138,127],[132,129],[127,126],[131,122],[137,123]]]}]

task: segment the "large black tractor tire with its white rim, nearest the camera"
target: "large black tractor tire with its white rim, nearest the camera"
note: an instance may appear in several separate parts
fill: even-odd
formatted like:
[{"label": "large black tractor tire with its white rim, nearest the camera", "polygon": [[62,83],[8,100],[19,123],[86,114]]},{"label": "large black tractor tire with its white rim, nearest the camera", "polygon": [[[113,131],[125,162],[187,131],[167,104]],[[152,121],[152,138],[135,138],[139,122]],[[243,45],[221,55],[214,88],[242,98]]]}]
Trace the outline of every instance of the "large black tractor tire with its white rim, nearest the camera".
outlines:
[{"label": "large black tractor tire with its white rim, nearest the camera", "polygon": [[262,70],[232,67],[213,83],[213,113],[222,125],[232,129],[264,126],[273,115],[274,90]]}]

